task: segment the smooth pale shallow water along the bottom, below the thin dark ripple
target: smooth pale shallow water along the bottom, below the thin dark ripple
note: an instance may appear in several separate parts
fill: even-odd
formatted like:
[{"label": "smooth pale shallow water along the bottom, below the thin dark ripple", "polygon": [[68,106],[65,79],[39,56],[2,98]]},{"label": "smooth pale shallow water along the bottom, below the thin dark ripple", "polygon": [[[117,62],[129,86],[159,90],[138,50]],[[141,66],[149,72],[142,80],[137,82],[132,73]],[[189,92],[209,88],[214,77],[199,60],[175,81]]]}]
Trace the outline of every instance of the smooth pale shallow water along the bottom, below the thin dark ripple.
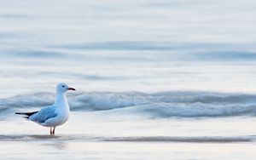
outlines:
[{"label": "smooth pale shallow water along the bottom, below the thin dark ripple", "polygon": [[[187,143],[120,143],[120,142],[28,142],[26,147],[32,154],[20,151],[24,147],[22,142],[2,142],[4,148],[11,147],[3,157],[13,159],[51,158],[51,159],[253,159],[254,147],[245,143],[232,144],[187,144]],[[64,152],[65,151],[65,152]],[[203,153],[202,153],[203,151]],[[229,156],[228,156],[229,155]]]}]

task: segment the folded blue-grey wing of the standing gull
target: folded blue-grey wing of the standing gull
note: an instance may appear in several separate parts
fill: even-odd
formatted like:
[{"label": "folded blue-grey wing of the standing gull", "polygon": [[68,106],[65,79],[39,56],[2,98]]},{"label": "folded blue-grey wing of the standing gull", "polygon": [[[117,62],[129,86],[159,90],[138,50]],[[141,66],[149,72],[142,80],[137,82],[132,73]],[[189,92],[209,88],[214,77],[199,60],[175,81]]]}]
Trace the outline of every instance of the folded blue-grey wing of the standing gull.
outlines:
[{"label": "folded blue-grey wing of the standing gull", "polygon": [[34,122],[44,123],[46,120],[52,117],[56,117],[57,113],[55,112],[55,106],[47,106],[38,111],[38,113],[29,117]]}]

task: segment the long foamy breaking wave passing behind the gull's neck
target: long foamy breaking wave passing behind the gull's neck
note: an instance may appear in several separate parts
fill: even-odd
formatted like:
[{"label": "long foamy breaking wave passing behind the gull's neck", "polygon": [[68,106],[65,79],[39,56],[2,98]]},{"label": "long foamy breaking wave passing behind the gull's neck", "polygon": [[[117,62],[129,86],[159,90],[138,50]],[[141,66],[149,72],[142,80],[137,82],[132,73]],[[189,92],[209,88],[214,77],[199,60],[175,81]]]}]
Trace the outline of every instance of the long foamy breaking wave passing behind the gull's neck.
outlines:
[{"label": "long foamy breaking wave passing behind the gull's neck", "polygon": [[[137,114],[148,117],[255,116],[256,95],[207,92],[88,92],[67,94],[72,111],[106,111],[109,114]],[[21,94],[0,100],[0,113],[8,109],[49,106],[55,94]]]}]

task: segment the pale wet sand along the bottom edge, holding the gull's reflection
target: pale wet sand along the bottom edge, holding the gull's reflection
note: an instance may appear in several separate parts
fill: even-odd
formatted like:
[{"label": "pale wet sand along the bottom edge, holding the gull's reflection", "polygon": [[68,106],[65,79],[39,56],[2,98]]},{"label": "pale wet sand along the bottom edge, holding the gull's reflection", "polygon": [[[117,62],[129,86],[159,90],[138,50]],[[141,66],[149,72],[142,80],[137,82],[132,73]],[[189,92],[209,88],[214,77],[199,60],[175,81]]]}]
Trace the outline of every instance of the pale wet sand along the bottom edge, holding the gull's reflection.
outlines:
[{"label": "pale wet sand along the bottom edge, holding the gull's reflection", "polygon": [[[88,140],[67,135],[25,136],[32,140],[3,140],[3,159],[253,159],[250,138],[189,138],[180,140]],[[68,138],[67,138],[68,137]],[[18,138],[18,137],[16,137]],[[183,138],[181,138],[183,139]],[[182,143],[181,143],[182,142]]]}]

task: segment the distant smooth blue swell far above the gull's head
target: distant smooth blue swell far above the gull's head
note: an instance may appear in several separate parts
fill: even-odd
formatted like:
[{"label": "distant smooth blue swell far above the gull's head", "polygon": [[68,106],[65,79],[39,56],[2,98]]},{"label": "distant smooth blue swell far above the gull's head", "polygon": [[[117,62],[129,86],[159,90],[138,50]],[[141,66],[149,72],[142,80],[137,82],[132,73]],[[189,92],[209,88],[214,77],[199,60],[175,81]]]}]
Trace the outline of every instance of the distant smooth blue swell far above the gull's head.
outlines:
[{"label": "distant smooth blue swell far above the gull's head", "polygon": [[[1,33],[0,37],[20,37],[17,33]],[[96,53],[97,56],[91,54]],[[254,61],[253,44],[238,43],[170,43],[148,41],[117,41],[49,45],[39,49],[2,49],[3,58],[52,59],[127,62],[154,61]],[[157,56],[156,56],[157,55]],[[70,62],[70,61],[69,61]]]}]

